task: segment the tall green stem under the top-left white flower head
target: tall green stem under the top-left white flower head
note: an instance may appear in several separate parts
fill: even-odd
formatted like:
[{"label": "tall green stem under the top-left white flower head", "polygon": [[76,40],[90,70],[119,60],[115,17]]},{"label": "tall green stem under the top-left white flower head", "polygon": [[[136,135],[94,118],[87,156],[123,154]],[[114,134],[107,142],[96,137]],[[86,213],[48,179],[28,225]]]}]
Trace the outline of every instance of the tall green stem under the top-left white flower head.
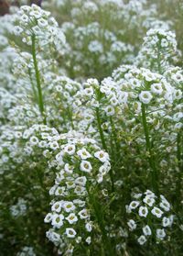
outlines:
[{"label": "tall green stem under the top-left white flower head", "polygon": [[45,109],[44,109],[44,103],[43,103],[43,95],[42,95],[42,88],[40,83],[40,74],[38,71],[38,61],[37,61],[37,53],[36,53],[36,37],[35,35],[32,36],[32,57],[34,62],[34,68],[36,72],[36,81],[37,81],[37,87],[38,87],[38,107],[40,110],[40,114],[43,117],[43,123],[46,125],[46,116],[45,116]]}]

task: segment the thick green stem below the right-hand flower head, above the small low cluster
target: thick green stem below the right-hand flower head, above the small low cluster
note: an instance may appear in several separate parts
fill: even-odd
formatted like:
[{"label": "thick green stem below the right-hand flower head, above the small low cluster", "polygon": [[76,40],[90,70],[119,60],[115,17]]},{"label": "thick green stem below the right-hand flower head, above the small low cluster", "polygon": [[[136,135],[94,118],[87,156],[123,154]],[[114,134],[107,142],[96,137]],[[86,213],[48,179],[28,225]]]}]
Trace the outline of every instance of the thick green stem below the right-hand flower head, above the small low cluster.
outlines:
[{"label": "thick green stem below the right-hand flower head, above the small low cluster", "polygon": [[148,154],[148,161],[149,165],[151,168],[151,183],[152,183],[152,188],[156,192],[156,195],[159,195],[158,191],[158,173],[156,170],[156,164],[154,160],[154,154],[152,151],[151,147],[151,142],[149,138],[149,131],[148,131],[148,126],[146,122],[146,113],[145,113],[145,105],[142,103],[142,119],[143,119],[143,127],[145,131],[145,142],[146,142],[146,151]]}]

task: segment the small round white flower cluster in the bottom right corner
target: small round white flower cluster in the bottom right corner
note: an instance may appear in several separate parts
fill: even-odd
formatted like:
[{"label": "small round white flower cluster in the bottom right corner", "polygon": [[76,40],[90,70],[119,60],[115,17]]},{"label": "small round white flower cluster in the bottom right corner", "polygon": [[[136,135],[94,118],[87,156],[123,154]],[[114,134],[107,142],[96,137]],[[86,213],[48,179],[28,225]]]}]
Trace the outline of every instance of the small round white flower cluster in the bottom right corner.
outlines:
[{"label": "small round white flower cluster in the bottom right corner", "polygon": [[166,229],[171,228],[174,216],[171,215],[171,206],[164,195],[157,197],[152,191],[146,190],[144,194],[134,194],[129,206],[126,206],[127,214],[132,218],[127,222],[130,231],[136,230],[141,235],[137,241],[140,245],[151,238],[156,238],[157,242],[165,239]]}]

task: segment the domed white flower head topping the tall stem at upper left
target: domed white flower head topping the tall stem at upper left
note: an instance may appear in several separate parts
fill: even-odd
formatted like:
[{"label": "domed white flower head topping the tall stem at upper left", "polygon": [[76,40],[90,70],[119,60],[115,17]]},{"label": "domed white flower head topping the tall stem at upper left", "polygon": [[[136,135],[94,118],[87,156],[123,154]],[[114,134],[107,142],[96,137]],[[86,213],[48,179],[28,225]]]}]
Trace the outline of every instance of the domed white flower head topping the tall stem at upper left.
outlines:
[{"label": "domed white flower head topping the tall stem at upper left", "polygon": [[33,39],[37,39],[41,48],[53,44],[57,50],[61,50],[65,43],[65,36],[55,18],[37,5],[21,6],[16,24],[15,34],[21,36],[22,41],[28,45],[32,45]]}]

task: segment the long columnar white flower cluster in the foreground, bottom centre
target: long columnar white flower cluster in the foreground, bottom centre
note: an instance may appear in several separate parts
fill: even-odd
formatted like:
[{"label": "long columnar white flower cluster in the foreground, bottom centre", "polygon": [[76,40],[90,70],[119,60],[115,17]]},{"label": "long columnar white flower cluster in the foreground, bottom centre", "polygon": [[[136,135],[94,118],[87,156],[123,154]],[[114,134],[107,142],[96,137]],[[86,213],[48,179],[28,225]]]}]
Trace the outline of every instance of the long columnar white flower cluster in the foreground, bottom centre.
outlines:
[{"label": "long columnar white flower cluster in the foreground, bottom centre", "polygon": [[60,171],[49,190],[53,200],[45,222],[52,226],[47,232],[48,239],[59,250],[67,251],[81,242],[92,242],[90,193],[97,189],[97,183],[102,183],[111,165],[108,153],[92,139],[68,139],[60,149],[56,155]]}]

